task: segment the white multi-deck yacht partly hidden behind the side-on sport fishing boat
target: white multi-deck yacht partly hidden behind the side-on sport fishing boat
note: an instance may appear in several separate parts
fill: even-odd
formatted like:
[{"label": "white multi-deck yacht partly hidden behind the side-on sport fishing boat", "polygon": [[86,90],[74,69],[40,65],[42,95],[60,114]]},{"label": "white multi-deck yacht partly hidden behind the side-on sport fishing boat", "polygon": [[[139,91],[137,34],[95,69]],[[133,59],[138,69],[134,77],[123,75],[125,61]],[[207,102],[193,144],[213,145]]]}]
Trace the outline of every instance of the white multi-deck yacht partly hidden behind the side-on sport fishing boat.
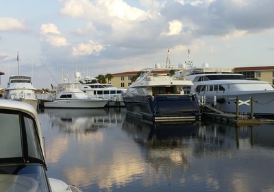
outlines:
[{"label": "white multi-deck yacht partly hidden behind the side-on sport fishing boat", "polygon": [[125,106],[121,93],[125,93],[125,88],[116,88],[112,84],[102,84],[95,77],[82,77],[77,72],[75,79],[80,83],[79,88],[92,98],[108,99],[108,105]]}]

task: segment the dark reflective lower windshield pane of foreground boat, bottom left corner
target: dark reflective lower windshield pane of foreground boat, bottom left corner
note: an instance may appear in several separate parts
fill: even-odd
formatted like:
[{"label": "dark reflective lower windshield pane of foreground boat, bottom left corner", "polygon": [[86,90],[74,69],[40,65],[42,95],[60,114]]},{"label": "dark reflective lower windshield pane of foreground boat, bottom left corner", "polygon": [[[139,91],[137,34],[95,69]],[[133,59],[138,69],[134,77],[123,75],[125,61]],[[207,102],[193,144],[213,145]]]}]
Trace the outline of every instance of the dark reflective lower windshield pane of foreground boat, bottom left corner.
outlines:
[{"label": "dark reflective lower windshield pane of foreground boat, bottom left corner", "polygon": [[50,191],[41,165],[0,165],[1,191]]}]

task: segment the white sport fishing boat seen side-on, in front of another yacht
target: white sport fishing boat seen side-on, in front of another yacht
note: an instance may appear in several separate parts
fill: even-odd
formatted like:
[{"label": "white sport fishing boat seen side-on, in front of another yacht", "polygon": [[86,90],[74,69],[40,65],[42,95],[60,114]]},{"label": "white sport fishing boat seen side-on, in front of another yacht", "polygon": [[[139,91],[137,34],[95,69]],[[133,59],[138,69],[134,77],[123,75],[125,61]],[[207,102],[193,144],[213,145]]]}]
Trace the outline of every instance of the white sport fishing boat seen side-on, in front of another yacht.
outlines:
[{"label": "white sport fishing boat seen side-on, in front of another yacht", "polygon": [[52,101],[45,102],[45,108],[103,108],[108,99],[91,98],[79,89],[79,83],[58,84],[58,91]]}]

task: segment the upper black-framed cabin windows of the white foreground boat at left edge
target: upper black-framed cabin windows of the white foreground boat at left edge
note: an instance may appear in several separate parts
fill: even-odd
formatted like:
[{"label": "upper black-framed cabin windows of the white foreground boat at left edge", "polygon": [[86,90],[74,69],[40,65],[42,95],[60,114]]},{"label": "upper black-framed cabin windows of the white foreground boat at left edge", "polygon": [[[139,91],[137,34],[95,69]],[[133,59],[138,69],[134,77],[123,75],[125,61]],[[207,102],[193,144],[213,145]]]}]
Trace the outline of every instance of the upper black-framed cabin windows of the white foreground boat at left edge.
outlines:
[{"label": "upper black-framed cabin windows of the white foreground boat at left edge", "polygon": [[0,110],[0,163],[45,165],[36,121],[25,112]]}]

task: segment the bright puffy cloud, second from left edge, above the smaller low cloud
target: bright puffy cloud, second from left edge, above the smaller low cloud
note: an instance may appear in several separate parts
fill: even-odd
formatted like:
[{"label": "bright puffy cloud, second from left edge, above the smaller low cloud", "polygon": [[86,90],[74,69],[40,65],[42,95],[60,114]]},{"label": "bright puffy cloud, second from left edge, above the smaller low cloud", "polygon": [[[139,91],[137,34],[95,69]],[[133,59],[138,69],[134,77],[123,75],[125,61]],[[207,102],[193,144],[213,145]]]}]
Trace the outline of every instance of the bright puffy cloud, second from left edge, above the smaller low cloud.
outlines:
[{"label": "bright puffy cloud, second from left edge, above the smaller low cloud", "polygon": [[45,41],[53,47],[62,47],[68,45],[66,38],[62,36],[58,27],[53,23],[42,24],[40,27],[40,40]]}]

